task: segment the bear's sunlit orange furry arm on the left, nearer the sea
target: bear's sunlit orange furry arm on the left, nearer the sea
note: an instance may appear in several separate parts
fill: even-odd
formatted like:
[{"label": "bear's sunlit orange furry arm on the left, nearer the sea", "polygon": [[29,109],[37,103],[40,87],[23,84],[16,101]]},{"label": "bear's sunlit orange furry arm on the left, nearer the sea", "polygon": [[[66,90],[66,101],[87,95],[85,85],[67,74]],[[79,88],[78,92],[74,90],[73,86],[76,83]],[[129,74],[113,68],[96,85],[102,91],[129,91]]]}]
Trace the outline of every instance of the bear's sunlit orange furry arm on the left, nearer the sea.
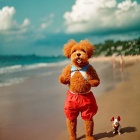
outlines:
[{"label": "bear's sunlit orange furry arm on the left, nearer the sea", "polygon": [[60,83],[65,85],[70,83],[70,70],[71,70],[71,64],[69,64],[63,69],[62,74],[59,76]]}]

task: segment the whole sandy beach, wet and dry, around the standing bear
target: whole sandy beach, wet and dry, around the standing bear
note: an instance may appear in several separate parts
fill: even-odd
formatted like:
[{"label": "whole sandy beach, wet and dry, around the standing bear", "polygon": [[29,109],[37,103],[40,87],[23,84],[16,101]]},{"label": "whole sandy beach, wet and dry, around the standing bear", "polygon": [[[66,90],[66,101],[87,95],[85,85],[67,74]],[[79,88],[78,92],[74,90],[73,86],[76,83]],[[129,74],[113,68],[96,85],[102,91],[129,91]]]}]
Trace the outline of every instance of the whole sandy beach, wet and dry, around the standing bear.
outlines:
[{"label": "whole sandy beach, wet and dry, around the standing bear", "polygon": [[[99,111],[94,117],[96,139],[140,139],[140,61],[124,64],[123,73],[112,59],[90,60],[101,85],[92,89]],[[31,77],[19,84],[0,87],[0,140],[67,140],[63,112],[67,86],[58,82],[64,66],[53,75]],[[55,69],[55,68],[54,68]],[[53,69],[52,69],[53,71]],[[120,115],[122,135],[112,134],[110,118]],[[79,115],[78,138],[84,140],[84,123]]]}]

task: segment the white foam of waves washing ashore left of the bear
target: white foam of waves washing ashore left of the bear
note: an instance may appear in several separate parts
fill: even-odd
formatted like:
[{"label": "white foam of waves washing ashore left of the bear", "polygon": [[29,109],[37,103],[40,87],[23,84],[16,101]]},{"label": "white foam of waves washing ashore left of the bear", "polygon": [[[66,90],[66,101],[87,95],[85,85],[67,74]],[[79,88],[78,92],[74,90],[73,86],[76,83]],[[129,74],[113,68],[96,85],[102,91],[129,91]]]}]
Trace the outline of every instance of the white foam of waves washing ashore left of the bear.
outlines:
[{"label": "white foam of waves washing ashore left of the bear", "polygon": [[[0,68],[0,75],[5,74],[15,74],[16,72],[26,72],[29,70],[35,70],[35,69],[39,69],[39,68],[47,68],[47,67],[59,67],[59,66],[64,66],[66,64],[68,64],[69,61],[62,61],[62,62],[57,62],[57,63],[37,63],[37,64],[31,64],[31,65],[13,65],[13,66],[7,66],[7,67],[2,67]],[[40,76],[47,76],[47,75],[51,75],[53,74],[55,71],[47,71],[45,73],[41,73],[39,74]],[[37,74],[38,75],[38,74]],[[27,76],[30,77],[30,76]],[[5,86],[10,86],[13,84],[18,84],[23,82],[25,79],[27,79],[27,77],[23,76],[23,77],[13,77],[9,79],[3,79],[0,82],[0,87],[5,87]]]}]

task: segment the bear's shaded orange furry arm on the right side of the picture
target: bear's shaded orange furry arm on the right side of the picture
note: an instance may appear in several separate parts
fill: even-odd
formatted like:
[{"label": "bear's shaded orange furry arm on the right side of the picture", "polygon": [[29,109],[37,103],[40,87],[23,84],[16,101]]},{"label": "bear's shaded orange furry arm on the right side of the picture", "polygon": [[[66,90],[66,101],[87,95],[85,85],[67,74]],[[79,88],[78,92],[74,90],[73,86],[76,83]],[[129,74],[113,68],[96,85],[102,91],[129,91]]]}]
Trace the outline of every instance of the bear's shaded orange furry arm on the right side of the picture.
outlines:
[{"label": "bear's shaded orange furry arm on the right side of the picture", "polygon": [[100,84],[100,79],[98,77],[98,74],[92,66],[89,66],[87,69],[87,77],[88,77],[88,82],[92,87],[97,87]]}]

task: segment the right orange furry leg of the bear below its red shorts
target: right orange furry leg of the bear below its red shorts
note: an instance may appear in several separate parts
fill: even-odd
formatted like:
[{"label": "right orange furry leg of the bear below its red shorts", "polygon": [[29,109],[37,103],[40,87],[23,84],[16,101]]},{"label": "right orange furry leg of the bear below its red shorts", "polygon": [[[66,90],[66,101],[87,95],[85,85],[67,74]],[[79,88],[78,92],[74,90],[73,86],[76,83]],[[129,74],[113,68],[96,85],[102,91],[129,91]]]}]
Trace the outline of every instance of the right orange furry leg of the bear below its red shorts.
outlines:
[{"label": "right orange furry leg of the bear below its red shorts", "polygon": [[94,122],[93,120],[85,120],[86,140],[95,140],[93,134]]}]

